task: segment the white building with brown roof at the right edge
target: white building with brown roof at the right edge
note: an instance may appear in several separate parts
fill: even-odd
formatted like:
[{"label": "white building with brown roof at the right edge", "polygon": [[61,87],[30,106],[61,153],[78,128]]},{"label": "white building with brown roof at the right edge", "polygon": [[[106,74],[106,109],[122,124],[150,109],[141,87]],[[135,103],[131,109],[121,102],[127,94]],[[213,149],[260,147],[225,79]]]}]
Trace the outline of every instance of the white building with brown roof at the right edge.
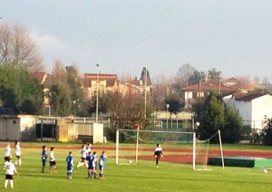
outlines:
[{"label": "white building with brown roof at the right edge", "polygon": [[232,94],[223,98],[227,106],[238,110],[244,121],[253,130],[261,130],[266,120],[272,118],[272,95],[263,93]]}]

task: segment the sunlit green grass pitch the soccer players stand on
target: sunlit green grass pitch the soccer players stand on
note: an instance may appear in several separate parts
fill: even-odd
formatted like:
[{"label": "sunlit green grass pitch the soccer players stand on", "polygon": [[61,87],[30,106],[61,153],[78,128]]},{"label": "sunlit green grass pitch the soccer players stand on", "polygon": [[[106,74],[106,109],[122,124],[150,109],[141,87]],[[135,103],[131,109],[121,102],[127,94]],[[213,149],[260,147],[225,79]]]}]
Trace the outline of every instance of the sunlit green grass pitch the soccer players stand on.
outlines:
[{"label": "sunlit green grass pitch the soccer players stand on", "polygon": [[[41,146],[55,147],[57,174],[41,173]],[[0,191],[270,191],[272,190],[272,170],[267,174],[260,168],[230,168],[223,170],[212,167],[211,171],[193,171],[189,164],[160,162],[160,168],[153,161],[132,162],[129,166],[115,165],[114,158],[108,158],[105,179],[87,179],[86,168],[74,168],[73,179],[66,178],[65,158],[73,151],[74,164],[80,159],[80,145],[56,143],[31,143],[24,148],[23,165],[17,167],[20,176],[15,176],[15,189],[5,189],[5,172],[1,171]],[[26,146],[25,146],[26,147]],[[65,149],[63,149],[65,147]],[[100,146],[102,147],[102,146]],[[77,149],[76,149],[77,148]],[[95,146],[94,146],[95,148]],[[228,147],[230,149],[230,147]],[[4,151],[4,144],[2,145]],[[239,149],[239,148],[236,148]],[[13,149],[12,149],[13,150]],[[14,150],[13,150],[14,151]],[[97,150],[98,155],[102,149]],[[113,156],[115,151],[107,151]],[[3,159],[3,158],[2,158]],[[1,160],[0,162],[3,162]]]}]

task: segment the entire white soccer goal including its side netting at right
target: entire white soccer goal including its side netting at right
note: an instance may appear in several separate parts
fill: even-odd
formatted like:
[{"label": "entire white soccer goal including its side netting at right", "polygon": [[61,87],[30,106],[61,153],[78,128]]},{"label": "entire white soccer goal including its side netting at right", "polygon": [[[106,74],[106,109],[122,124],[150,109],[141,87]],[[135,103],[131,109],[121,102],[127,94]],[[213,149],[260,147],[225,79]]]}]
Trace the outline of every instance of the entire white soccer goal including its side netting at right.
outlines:
[{"label": "entire white soccer goal including its side netting at right", "polygon": [[153,164],[154,149],[156,144],[161,144],[161,161],[190,164],[194,170],[204,170],[208,169],[209,156],[222,156],[219,148],[209,148],[209,141],[196,139],[195,132],[116,130],[116,164]]}]

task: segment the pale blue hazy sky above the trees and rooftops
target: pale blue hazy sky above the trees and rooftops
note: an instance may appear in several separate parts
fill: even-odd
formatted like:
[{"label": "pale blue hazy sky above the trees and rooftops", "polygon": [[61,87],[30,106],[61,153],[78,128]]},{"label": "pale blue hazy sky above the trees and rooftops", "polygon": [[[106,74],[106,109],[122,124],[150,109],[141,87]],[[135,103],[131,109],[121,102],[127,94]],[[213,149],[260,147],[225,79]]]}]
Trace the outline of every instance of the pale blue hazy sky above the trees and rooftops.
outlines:
[{"label": "pale blue hazy sky above the trees and rooftops", "polygon": [[[0,0],[1,23],[30,32],[45,70],[175,77],[183,64],[272,80],[270,0]],[[99,69],[96,63],[100,63]]]}]

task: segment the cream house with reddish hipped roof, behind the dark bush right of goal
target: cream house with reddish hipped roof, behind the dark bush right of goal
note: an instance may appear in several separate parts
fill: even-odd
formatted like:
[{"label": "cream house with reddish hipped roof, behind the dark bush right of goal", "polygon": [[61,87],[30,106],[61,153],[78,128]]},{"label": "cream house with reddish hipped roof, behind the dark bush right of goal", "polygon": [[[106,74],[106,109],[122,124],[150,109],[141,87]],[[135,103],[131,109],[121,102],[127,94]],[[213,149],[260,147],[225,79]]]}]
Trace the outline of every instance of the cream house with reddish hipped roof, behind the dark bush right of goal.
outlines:
[{"label": "cream house with reddish hipped roof, behind the dark bush right of goal", "polygon": [[238,92],[237,89],[231,88],[219,82],[200,82],[199,84],[190,85],[181,89],[184,100],[184,108],[192,108],[197,99],[206,97],[210,91],[218,91],[221,95],[228,95]]}]

